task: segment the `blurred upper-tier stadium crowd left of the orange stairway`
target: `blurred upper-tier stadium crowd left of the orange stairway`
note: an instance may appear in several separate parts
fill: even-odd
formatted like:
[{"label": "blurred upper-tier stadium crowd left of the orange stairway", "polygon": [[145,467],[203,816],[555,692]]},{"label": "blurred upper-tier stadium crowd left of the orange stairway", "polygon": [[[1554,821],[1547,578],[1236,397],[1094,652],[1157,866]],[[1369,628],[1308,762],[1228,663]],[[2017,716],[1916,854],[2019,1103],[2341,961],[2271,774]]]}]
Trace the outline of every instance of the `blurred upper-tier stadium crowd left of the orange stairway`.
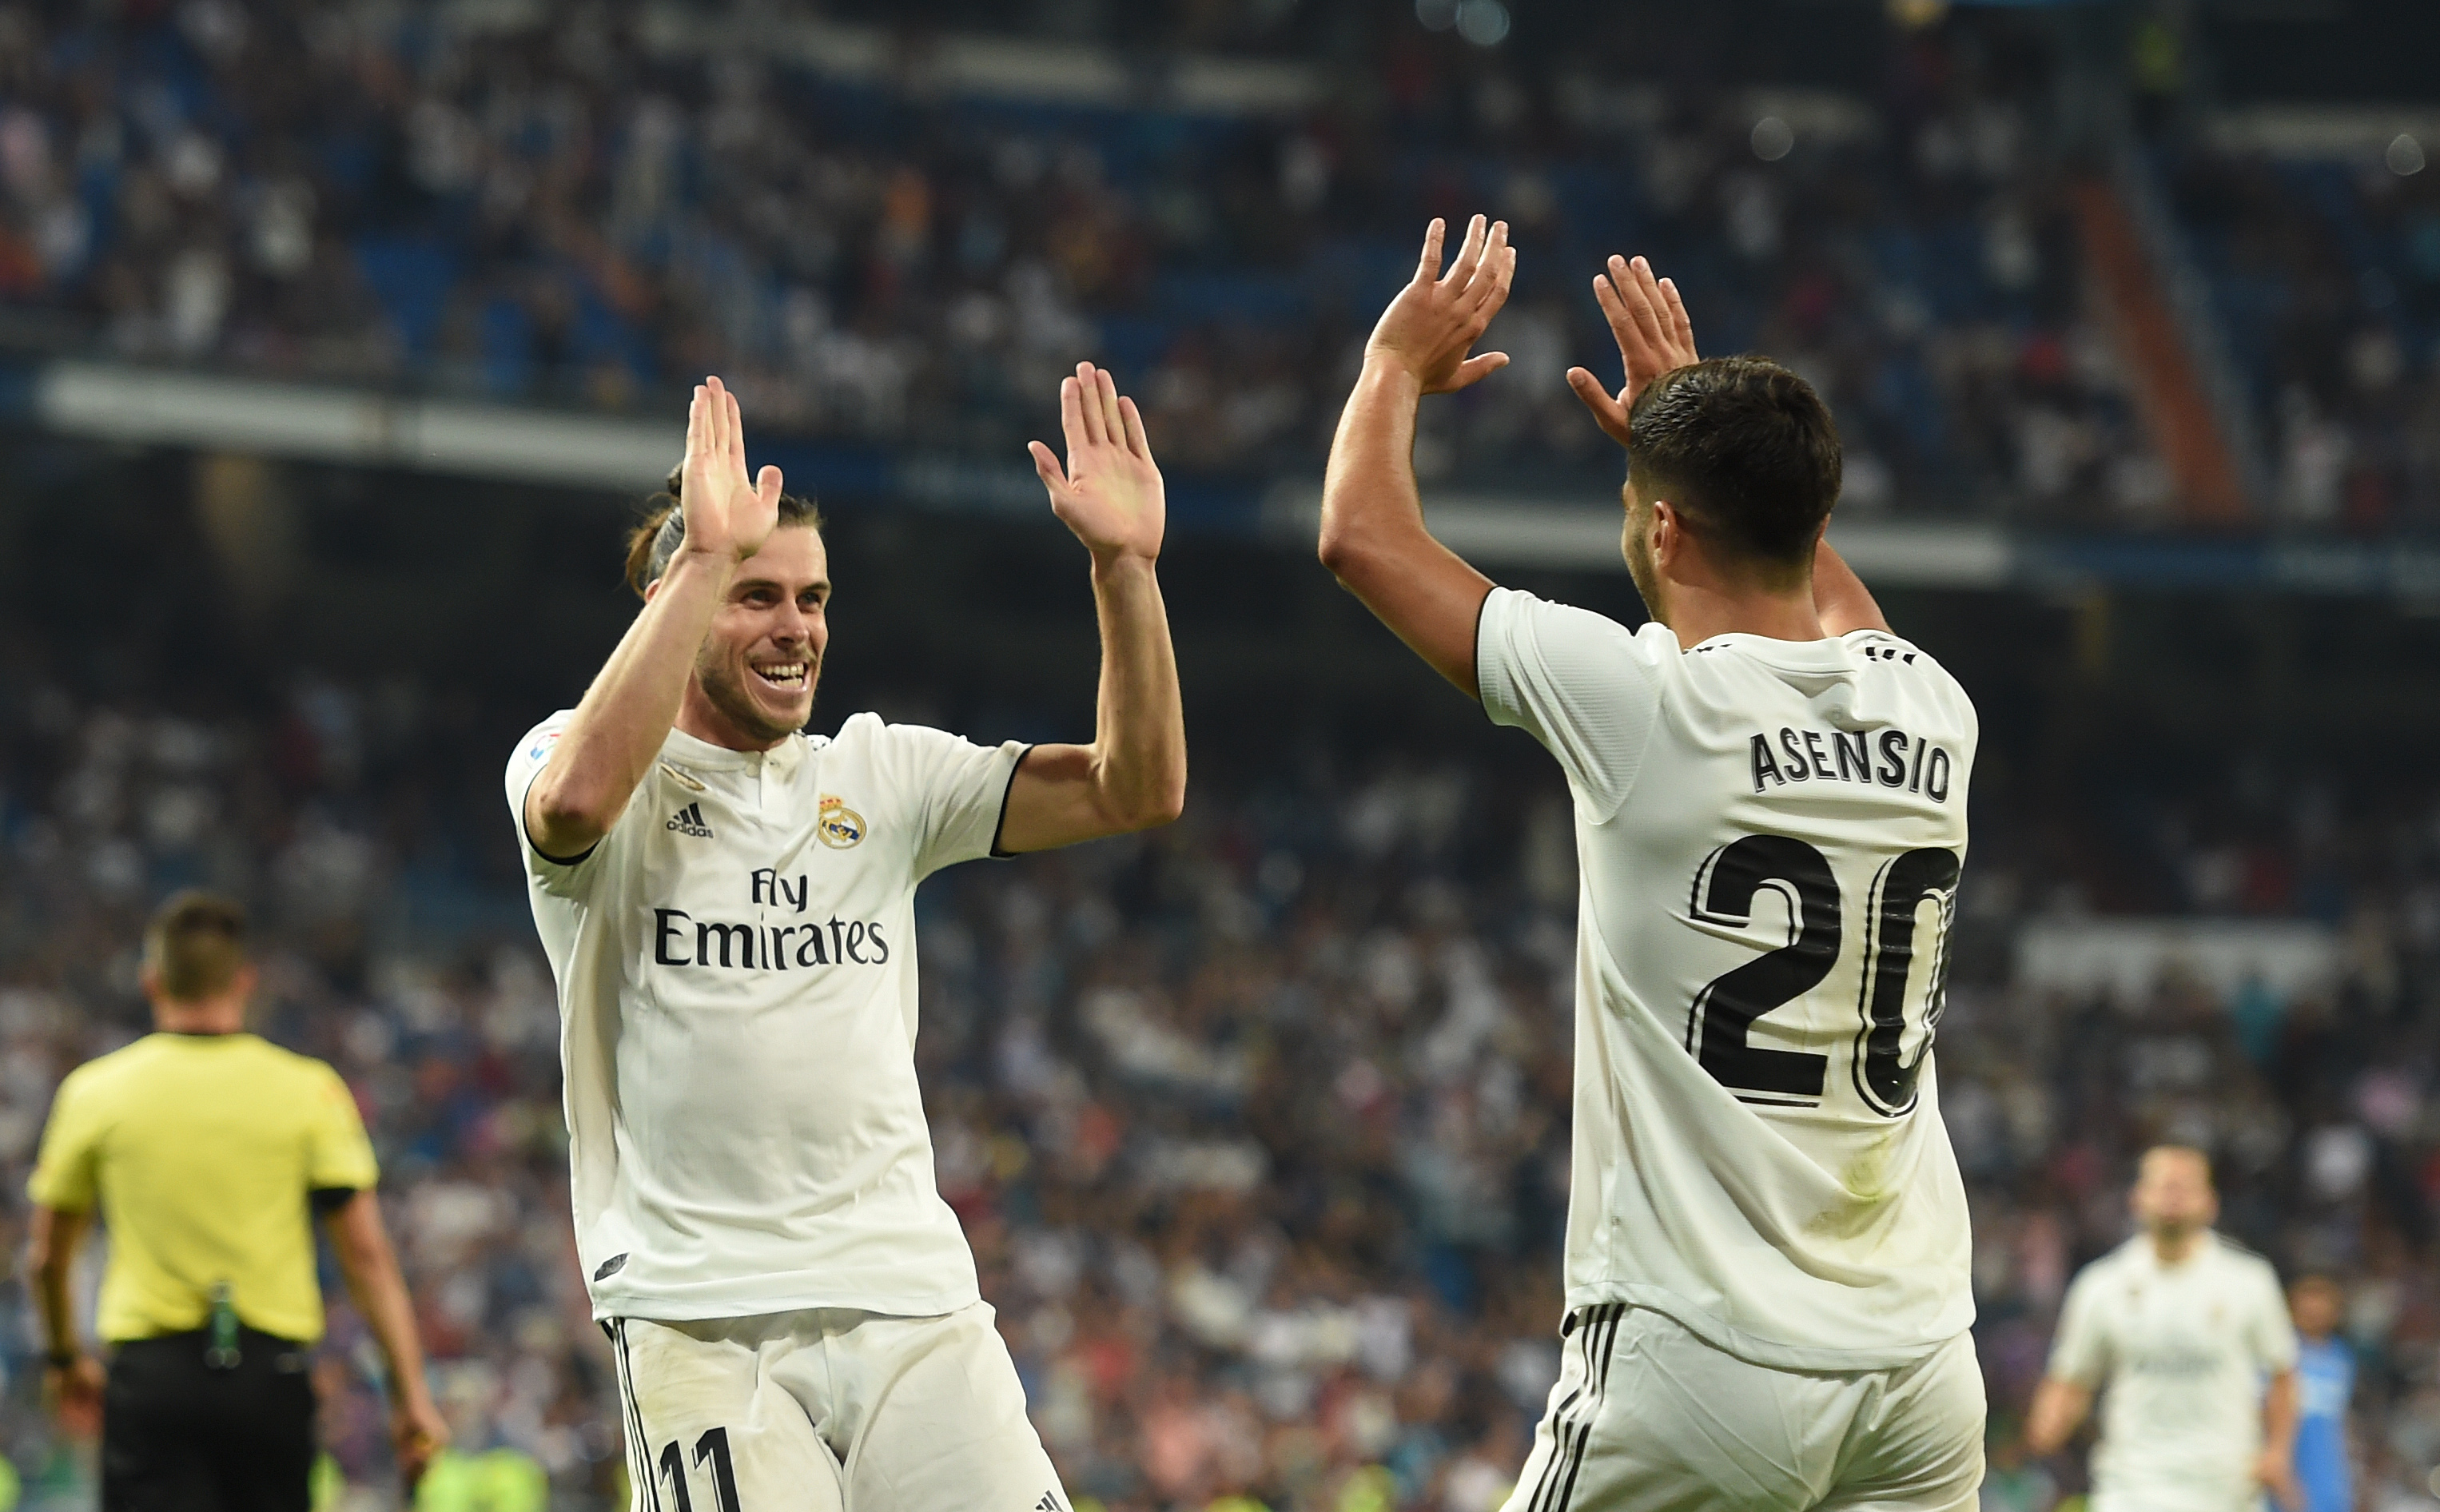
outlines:
[{"label": "blurred upper-tier stadium crowd left of the orange stairway", "polygon": [[952,449],[1013,449],[1093,356],[1174,471],[1261,480],[1318,461],[1425,217],[1488,210],[1518,361],[1430,412],[1427,476],[1606,476],[1562,371],[1615,361],[1586,280],[1647,251],[1708,349],[1828,393],[1857,512],[2169,502],[2028,29],[1893,41],[1881,100],[1791,124],[1623,83],[1627,37],[1525,59],[1396,7],[1305,59],[1313,102],[1242,115],[954,95],[920,39],[849,80],[656,15],[0,7],[7,332],[605,407],[720,371],[761,434]]}]

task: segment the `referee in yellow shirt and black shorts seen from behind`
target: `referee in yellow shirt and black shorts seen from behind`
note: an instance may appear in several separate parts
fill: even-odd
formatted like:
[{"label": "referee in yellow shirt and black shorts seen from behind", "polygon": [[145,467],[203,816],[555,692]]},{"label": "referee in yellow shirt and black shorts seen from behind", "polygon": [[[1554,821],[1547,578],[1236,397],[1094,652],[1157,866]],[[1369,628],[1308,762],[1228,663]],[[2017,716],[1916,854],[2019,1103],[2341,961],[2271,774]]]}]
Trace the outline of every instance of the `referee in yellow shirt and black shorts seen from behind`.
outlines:
[{"label": "referee in yellow shirt and black shorts seen from behind", "polygon": [[[102,1414],[102,1512],[307,1512],[315,1214],[388,1358],[410,1480],[449,1436],[356,1102],[322,1061],[246,1034],[254,980],[244,910],[171,897],[144,932],[159,1032],[68,1073],[41,1134],[29,1271],[61,1414]],[[68,1305],[95,1210],[107,1371]]]}]

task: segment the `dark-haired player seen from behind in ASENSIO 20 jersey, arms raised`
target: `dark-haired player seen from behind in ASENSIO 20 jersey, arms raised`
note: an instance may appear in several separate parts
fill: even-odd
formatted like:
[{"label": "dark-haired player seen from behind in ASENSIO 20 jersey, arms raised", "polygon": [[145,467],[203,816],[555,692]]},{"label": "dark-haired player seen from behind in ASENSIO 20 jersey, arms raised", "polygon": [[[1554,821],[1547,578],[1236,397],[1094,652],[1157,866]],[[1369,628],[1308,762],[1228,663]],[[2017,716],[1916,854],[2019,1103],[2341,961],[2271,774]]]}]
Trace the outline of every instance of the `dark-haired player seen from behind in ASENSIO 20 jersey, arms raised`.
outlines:
[{"label": "dark-haired player seen from behind in ASENSIO 20 jersey, arms raised", "polygon": [[1627,449],[1652,624],[1496,588],[1425,529],[1415,405],[1515,271],[1442,224],[1340,419],[1322,563],[1566,773],[1581,866],[1562,1375],[1508,1512],[1947,1512],[1981,1483],[1964,1185],[1932,1032],[1974,705],[1823,544],[1830,412],[1701,361],[1642,259],[1593,280],[1625,358],[1569,383]]}]

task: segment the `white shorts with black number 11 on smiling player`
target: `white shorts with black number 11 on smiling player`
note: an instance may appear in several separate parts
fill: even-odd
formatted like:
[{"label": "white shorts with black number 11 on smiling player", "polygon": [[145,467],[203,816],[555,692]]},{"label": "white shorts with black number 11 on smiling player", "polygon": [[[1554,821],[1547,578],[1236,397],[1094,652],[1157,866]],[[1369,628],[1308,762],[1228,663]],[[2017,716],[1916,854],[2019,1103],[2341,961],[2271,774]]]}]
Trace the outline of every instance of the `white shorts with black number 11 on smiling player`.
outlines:
[{"label": "white shorts with black number 11 on smiling player", "polygon": [[634,1512],[1069,1512],[988,1302],[603,1327]]}]

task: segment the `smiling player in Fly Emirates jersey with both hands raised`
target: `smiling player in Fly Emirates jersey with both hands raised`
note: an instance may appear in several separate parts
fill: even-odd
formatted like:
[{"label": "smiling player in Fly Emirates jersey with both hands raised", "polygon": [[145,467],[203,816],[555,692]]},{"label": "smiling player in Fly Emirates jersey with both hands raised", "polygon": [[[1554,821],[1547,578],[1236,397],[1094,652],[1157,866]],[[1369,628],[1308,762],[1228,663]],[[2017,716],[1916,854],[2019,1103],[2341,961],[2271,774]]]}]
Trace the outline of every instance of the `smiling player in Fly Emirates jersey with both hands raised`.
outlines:
[{"label": "smiling player in Fly Emirates jersey with both hands raised", "polygon": [[[634,1505],[1064,1512],[915,1080],[915,885],[1179,817],[1161,473],[1108,373],[1059,383],[1052,510],[1091,554],[1091,746],[849,717],[808,736],[830,563],[734,395],[688,415],[644,597],[508,800],[569,1019],[576,1246],[617,1349]],[[688,1490],[693,1488],[693,1490]]]}]

